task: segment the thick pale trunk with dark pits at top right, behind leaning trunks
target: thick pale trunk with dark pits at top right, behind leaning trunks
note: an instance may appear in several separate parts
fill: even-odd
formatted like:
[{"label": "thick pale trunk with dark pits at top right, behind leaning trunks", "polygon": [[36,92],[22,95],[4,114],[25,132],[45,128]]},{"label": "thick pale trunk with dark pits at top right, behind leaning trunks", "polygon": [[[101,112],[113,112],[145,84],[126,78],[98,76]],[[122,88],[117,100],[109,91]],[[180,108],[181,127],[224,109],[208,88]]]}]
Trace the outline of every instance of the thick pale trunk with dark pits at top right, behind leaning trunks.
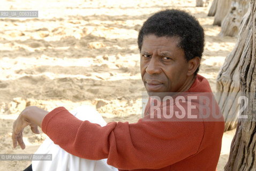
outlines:
[{"label": "thick pale trunk with dark pits at top right, behind leaning trunks", "polygon": [[232,0],[226,17],[221,22],[219,36],[237,36],[244,14],[248,11],[250,0]]}]

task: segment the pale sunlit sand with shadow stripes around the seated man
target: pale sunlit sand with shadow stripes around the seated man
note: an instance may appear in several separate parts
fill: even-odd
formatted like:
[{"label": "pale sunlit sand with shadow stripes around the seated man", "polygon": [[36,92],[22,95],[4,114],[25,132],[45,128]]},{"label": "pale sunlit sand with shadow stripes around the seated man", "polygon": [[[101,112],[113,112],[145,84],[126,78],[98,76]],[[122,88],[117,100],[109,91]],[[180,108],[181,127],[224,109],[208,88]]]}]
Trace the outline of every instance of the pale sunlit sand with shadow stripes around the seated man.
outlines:
[{"label": "pale sunlit sand with shadow stripes around the seated man", "polygon": [[[13,149],[12,123],[30,105],[51,111],[91,105],[107,122],[136,122],[145,92],[137,35],[150,14],[167,9],[193,14],[205,29],[199,73],[215,90],[216,77],[235,37],[195,1],[4,1],[1,10],[39,10],[39,18],[0,18],[0,153],[34,153],[46,138],[24,130],[26,150]],[[223,136],[218,170],[228,159],[235,131]],[[0,161],[0,170],[23,170],[31,161]]]}]

